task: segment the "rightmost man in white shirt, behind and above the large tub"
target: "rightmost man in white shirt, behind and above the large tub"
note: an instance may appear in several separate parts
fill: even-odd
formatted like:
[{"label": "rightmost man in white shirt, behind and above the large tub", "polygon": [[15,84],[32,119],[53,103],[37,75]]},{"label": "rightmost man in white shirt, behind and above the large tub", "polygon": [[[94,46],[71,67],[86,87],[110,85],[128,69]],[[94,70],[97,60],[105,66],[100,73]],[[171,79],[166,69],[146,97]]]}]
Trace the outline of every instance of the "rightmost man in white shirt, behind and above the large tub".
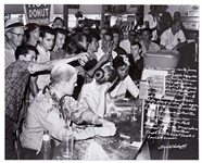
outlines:
[{"label": "rightmost man in white shirt, behind and above the large tub", "polygon": [[162,34],[160,45],[161,50],[177,50],[187,45],[186,37],[181,30],[181,21],[174,20],[172,22],[172,27]]}]

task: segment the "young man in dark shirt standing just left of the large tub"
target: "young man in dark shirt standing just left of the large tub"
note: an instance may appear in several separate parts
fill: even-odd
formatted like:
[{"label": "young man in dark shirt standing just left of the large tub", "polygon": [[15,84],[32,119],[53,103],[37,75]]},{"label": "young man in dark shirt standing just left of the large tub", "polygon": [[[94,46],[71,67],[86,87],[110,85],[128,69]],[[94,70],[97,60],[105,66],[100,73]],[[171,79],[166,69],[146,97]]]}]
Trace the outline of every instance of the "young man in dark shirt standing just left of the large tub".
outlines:
[{"label": "young man in dark shirt standing just left of the large tub", "polygon": [[142,49],[139,42],[131,43],[131,53],[128,54],[130,61],[129,76],[132,80],[140,79],[143,71],[143,58],[141,55]]}]

